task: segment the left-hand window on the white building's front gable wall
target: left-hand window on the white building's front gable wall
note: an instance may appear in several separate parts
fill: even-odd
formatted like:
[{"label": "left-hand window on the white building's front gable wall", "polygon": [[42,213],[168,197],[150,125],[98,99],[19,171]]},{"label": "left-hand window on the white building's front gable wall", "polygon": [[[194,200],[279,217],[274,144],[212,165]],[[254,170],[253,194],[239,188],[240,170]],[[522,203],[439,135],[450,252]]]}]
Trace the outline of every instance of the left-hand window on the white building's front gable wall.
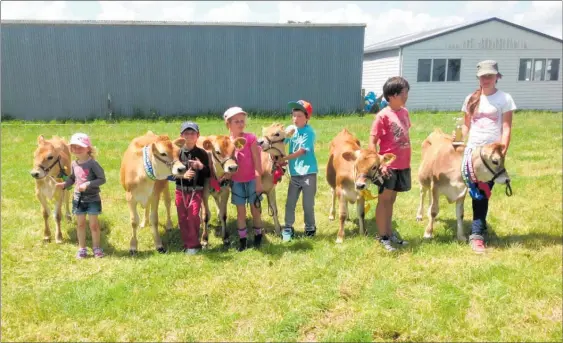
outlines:
[{"label": "left-hand window on the white building's front gable wall", "polygon": [[418,60],[417,82],[459,81],[460,59],[420,59]]}]

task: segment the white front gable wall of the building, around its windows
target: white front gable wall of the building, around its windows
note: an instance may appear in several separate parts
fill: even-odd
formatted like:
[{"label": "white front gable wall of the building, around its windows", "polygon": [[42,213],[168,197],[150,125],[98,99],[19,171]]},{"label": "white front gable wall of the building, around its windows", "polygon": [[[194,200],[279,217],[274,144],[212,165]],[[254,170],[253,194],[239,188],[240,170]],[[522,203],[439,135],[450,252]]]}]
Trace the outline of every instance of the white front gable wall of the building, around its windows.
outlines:
[{"label": "white front gable wall of the building, around its windows", "polygon": [[[458,82],[417,82],[418,59],[460,58]],[[559,58],[557,81],[518,81],[521,58]],[[562,43],[491,21],[403,48],[403,76],[409,81],[409,109],[460,111],[475,91],[479,61],[493,59],[503,78],[498,88],[514,98],[519,109],[562,110]]]}]

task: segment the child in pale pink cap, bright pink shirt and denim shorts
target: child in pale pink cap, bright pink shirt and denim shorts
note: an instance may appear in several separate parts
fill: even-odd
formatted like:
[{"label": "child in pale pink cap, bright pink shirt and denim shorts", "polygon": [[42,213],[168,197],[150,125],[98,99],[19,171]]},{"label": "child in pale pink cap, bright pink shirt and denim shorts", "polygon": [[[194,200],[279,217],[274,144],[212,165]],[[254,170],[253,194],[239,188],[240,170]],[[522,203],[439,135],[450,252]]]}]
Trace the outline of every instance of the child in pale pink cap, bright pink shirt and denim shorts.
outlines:
[{"label": "child in pale pink cap, bright pink shirt and denim shorts", "polygon": [[246,144],[236,147],[235,158],[239,166],[232,175],[231,203],[237,207],[237,229],[240,245],[238,250],[246,249],[246,204],[250,205],[250,212],[254,224],[254,246],[259,247],[262,241],[262,163],[260,148],[254,134],[244,132],[247,113],[240,107],[231,107],[223,114],[225,124],[229,129],[231,139],[243,137]]}]

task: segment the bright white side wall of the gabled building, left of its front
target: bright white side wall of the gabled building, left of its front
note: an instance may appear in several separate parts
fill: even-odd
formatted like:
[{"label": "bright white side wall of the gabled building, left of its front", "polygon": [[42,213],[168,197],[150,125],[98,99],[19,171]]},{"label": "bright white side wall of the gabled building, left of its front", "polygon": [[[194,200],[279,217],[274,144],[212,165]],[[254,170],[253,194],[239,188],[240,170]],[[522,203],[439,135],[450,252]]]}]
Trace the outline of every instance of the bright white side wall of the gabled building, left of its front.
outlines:
[{"label": "bright white side wall of the gabled building, left of its front", "polygon": [[399,49],[374,52],[364,55],[362,88],[366,94],[370,91],[377,96],[383,93],[383,85],[391,76],[399,75]]}]

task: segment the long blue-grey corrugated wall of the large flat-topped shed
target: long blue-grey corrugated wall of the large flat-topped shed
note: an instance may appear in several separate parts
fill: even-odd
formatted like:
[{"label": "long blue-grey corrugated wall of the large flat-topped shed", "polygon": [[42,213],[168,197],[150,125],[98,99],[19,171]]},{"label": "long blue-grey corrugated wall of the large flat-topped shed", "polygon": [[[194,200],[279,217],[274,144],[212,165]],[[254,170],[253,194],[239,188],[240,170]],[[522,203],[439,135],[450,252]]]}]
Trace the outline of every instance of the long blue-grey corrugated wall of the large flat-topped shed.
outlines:
[{"label": "long blue-grey corrugated wall of the large flat-topped shed", "polygon": [[2,113],[222,113],[361,108],[363,26],[2,23]]}]

